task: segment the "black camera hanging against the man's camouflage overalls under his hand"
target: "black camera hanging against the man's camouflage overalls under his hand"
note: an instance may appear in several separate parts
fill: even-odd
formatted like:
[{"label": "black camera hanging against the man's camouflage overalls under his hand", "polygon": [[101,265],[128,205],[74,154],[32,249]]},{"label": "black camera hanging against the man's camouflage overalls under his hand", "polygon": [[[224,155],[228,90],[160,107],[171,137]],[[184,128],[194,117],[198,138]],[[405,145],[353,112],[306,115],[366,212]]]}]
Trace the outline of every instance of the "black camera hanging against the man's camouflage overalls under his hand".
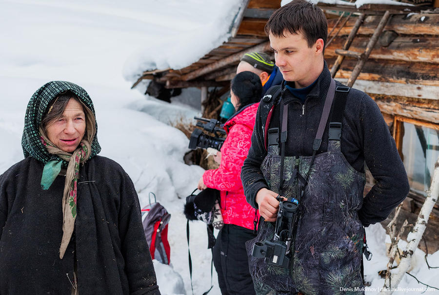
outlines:
[{"label": "black camera hanging against the man's camouflage overalls under his hand", "polygon": [[[280,198],[279,198],[280,200]],[[290,258],[290,244],[293,240],[293,232],[297,217],[299,201],[292,198],[291,201],[280,201],[278,217],[276,218],[275,234],[273,240],[256,242],[253,245],[252,256],[264,258],[265,262],[272,265],[288,267]]]}]

